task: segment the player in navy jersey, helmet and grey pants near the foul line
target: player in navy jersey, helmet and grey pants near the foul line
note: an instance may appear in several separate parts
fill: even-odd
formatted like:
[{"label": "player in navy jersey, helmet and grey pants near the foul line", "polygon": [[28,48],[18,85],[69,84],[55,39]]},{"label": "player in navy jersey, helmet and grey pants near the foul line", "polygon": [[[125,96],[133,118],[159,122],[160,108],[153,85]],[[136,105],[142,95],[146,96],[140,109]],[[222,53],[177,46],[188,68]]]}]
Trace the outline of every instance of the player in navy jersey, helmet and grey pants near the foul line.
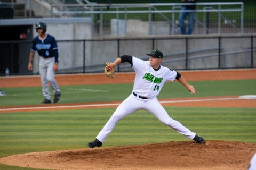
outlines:
[{"label": "player in navy jersey, helmet and grey pants near the foul line", "polygon": [[39,73],[41,76],[41,83],[43,89],[44,100],[41,104],[49,104],[51,96],[49,91],[48,82],[54,91],[53,103],[57,103],[60,99],[61,93],[54,78],[55,72],[58,70],[59,53],[58,46],[55,38],[46,33],[47,25],[44,22],[37,22],[36,32],[38,36],[33,39],[32,46],[29,53],[28,70],[33,70],[32,61],[37,51],[39,59]]}]

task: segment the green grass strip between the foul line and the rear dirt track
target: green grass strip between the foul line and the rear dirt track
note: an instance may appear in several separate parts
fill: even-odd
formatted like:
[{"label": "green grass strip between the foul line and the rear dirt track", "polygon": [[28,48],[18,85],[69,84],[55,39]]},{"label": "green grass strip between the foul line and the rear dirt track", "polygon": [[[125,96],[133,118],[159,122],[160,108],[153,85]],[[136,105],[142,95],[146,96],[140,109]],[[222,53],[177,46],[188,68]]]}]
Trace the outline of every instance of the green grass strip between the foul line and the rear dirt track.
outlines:
[{"label": "green grass strip between the foul line and the rear dirt track", "polygon": [[[195,86],[196,95],[191,95],[178,82],[168,82],[164,85],[158,98],[256,95],[256,80],[195,81],[190,83]],[[59,103],[121,101],[131,93],[132,87],[132,83],[61,86],[62,97]],[[41,87],[1,89],[6,92],[7,96],[0,96],[0,106],[35,105],[40,104],[43,100]]]}]

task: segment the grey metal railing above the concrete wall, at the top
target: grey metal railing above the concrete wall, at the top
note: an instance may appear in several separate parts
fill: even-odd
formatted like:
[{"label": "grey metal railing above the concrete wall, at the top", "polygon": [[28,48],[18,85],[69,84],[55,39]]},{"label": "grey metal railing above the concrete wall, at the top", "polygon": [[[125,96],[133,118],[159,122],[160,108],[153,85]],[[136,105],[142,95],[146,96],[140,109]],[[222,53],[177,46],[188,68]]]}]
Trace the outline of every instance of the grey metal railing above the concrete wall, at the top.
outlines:
[{"label": "grey metal railing above the concrete wall, at the top", "polygon": [[[93,35],[109,35],[111,19],[116,19],[116,30],[121,26],[127,29],[129,19],[148,22],[149,35],[154,35],[153,23],[163,21],[170,24],[169,34],[179,34],[178,15],[182,5],[191,3],[151,3],[151,4],[58,4],[51,6],[51,16],[85,16],[90,17]],[[196,3],[194,33],[244,33],[243,2]],[[120,21],[123,25],[121,25]],[[229,29],[227,32],[225,30]],[[124,31],[126,32],[126,31]],[[118,32],[117,32],[118,36]],[[123,36],[126,36],[124,33]]]}]

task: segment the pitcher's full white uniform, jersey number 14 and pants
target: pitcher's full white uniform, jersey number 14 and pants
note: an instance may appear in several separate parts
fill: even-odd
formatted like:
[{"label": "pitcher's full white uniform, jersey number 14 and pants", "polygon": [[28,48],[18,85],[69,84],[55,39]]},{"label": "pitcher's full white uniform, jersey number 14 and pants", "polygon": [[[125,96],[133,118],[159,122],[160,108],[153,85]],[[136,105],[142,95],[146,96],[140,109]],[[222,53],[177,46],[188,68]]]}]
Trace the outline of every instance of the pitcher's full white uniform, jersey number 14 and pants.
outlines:
[{"label": "pitcher's full white uniform, jersey number 14 and pants", "polygon": [[132,57],[132,67],[136,73],[133,92],[116,108],[116,111],[96,138],[104,142],[119,120],[134,111],[145,109],[165,125],[185,135],[187,138],[193,139],[196,133],[191,132],[180,122],[173,120],[156,98],[167,80],[175,80],[177,72],[164,66],[161,66],[156,71],[150,66],[149,61],[143,61],[136,57]]}]

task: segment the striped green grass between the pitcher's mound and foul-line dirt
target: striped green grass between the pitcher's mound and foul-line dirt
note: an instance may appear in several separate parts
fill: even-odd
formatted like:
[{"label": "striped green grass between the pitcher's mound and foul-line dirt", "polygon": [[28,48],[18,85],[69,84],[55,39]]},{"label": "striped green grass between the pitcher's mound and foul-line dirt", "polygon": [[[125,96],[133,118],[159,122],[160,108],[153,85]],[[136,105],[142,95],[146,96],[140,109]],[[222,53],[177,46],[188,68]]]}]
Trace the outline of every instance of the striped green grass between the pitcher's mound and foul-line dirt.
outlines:
[{"label": "striped green grass between the pitcher's mound and foul-line dirt", "polygon": [[[165,107],[175,120],[207,140],[256,143],[255,108]],[[0,157],[86,148],[115,108],[0,114]],[[103,147],[188,140],[146,111],[119,121]]]}]

